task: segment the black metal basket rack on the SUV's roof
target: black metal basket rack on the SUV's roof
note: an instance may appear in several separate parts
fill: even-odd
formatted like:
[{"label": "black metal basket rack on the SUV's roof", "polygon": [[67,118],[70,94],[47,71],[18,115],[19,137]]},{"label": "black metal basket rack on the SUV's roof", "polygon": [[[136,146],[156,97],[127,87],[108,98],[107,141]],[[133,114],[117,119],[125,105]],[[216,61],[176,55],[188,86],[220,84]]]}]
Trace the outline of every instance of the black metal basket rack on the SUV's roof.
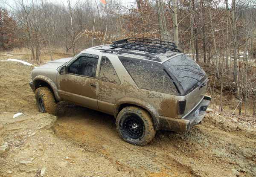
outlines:
[{"label": "black metal basket rack on the SUV's roof", "polygon": [[166,51],[180,52],[175,43],[156,39],[127,38],[113,41],[113,44],[110,46],[113,48],[133,49],[150,53],[165,53]]}]

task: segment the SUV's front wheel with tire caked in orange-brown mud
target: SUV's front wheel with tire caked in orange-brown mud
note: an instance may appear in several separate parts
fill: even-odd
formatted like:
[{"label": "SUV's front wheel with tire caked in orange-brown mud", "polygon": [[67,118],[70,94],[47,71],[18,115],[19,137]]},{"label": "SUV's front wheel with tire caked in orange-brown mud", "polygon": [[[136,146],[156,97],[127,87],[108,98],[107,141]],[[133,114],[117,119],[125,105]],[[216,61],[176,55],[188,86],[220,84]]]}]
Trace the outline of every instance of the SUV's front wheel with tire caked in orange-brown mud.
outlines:
[{"label": "SUV's front wheel with tire caked in orange-brown mud", "polygon": [[[35,100],[40,112],[55,115],[57,104],[55,102],[54,95],[48,87],[39,87],[36,89]],[[43,108],[41,106],[43,106]]]}]

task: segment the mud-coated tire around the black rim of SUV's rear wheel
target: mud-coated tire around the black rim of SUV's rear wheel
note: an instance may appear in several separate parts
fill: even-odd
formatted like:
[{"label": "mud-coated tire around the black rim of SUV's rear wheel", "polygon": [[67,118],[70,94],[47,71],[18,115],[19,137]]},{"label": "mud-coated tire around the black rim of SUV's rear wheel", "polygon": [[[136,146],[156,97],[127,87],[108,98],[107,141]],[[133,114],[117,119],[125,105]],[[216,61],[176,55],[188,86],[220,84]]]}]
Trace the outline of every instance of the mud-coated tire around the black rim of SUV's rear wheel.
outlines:
[{"label": "mud-coated tire around the black rim of SUV's rear wheel", "polygon": [[[125,130],[125,120],[131,116],[136,116],[143,122],[143,133],[140,138],[132,138],[127,134]],[[116,130],[126,142],[129,142],[133,145],[144,146],[151,142],[154,139],[156,131],[154,129],[154,124],[152,118],[148,111],[141,109],[136,106],[128,106],[123,108],[116,117]]]}]

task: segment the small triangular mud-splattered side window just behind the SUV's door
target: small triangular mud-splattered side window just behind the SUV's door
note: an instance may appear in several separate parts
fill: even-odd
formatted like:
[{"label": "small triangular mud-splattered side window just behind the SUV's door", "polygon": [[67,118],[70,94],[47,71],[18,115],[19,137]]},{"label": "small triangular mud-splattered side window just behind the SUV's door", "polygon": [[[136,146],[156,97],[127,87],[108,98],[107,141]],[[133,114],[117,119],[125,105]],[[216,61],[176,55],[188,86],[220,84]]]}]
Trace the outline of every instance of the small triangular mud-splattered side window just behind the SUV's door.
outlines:
[{"label": "small triangular mud-splattered side window just behind the SUV's door", "polygon": [[111,61],[105,56],[102,56],[101,59],[99,79],[105,82],[121,84]]}]

